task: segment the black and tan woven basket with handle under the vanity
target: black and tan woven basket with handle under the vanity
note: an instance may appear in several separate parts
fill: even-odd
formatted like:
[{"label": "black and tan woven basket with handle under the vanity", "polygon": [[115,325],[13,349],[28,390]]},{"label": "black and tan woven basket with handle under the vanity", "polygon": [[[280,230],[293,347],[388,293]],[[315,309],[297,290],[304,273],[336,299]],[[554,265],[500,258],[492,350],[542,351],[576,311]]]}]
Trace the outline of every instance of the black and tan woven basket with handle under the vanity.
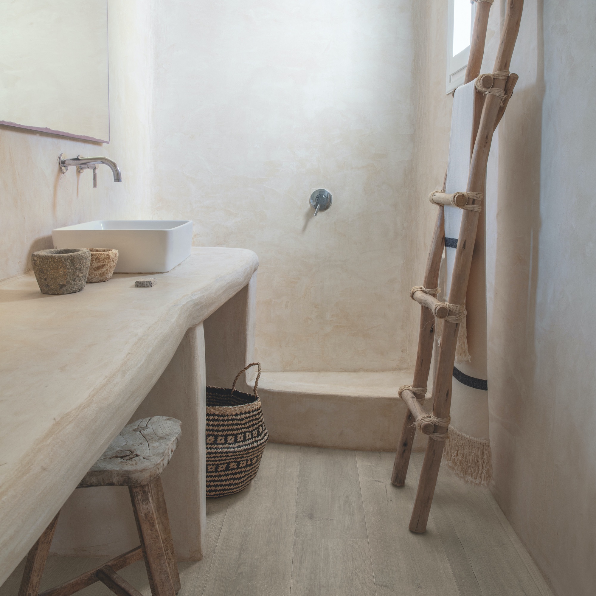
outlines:
[{"label": "black and tan woven basket with handle under the vanity", "polygon": [[[258,367],[253,395],[235,391],[236,381]],[[207,387],[207,496],[231,495],[246,488],[259,471],[269,433],[263,421],[257,386],[260,363],[236,375],[232,389]]]}]

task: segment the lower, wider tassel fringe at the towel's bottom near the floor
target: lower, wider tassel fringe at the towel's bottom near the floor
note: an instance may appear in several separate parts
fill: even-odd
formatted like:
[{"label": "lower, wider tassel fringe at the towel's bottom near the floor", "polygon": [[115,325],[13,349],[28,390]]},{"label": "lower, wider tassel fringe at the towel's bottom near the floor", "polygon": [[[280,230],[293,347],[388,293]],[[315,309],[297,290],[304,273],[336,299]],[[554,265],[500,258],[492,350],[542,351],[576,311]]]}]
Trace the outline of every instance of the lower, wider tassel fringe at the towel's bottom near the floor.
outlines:
[{"label": "lower, wider tassel fringe at the towel's bottom near the floor", "polygon": [[488,439],[476,439],[450,425],[449,440],[443,449],[443,462],[465,482],[475,485],[491,482],[491,442]]}]

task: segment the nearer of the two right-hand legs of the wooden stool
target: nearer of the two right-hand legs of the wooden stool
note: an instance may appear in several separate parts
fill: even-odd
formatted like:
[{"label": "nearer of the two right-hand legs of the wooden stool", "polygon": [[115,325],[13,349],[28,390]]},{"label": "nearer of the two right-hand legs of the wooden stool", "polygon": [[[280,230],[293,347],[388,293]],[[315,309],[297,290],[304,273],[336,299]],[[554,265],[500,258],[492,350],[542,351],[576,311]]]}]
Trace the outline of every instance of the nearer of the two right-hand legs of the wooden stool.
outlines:
[{"label": "nearer of the two right-hand legs of the wooden stool", "polygon": [[145,568],[153,596],[175,596],[166,552],[151,499],[151,486],[129,486],[136,529],[145,558]]}]

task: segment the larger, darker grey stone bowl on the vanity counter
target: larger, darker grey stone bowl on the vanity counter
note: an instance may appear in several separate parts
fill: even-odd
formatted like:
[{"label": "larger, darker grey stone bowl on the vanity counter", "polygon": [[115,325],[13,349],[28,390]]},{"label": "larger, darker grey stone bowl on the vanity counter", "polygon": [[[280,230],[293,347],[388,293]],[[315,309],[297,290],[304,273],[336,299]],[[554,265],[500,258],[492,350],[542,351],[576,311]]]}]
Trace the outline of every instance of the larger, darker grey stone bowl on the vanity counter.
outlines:
[{"label": "larger, darker grey stone bowl on the vanity counter", "polygon": [[91,253],[87,249],[46,249],[31,255],[42,294],[74,294],[87,282]]}]

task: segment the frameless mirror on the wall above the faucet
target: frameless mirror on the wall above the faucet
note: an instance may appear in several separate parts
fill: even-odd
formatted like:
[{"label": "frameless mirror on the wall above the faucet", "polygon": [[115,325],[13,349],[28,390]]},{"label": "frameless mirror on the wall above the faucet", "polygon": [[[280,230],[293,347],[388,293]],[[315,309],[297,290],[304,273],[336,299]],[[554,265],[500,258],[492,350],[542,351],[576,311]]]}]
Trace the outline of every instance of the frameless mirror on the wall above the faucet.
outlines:
[{"label": "frameless mirror on the wall above the faucet", "polygon": [[0,123],[110,142],[107,0],[0,0]]}]

